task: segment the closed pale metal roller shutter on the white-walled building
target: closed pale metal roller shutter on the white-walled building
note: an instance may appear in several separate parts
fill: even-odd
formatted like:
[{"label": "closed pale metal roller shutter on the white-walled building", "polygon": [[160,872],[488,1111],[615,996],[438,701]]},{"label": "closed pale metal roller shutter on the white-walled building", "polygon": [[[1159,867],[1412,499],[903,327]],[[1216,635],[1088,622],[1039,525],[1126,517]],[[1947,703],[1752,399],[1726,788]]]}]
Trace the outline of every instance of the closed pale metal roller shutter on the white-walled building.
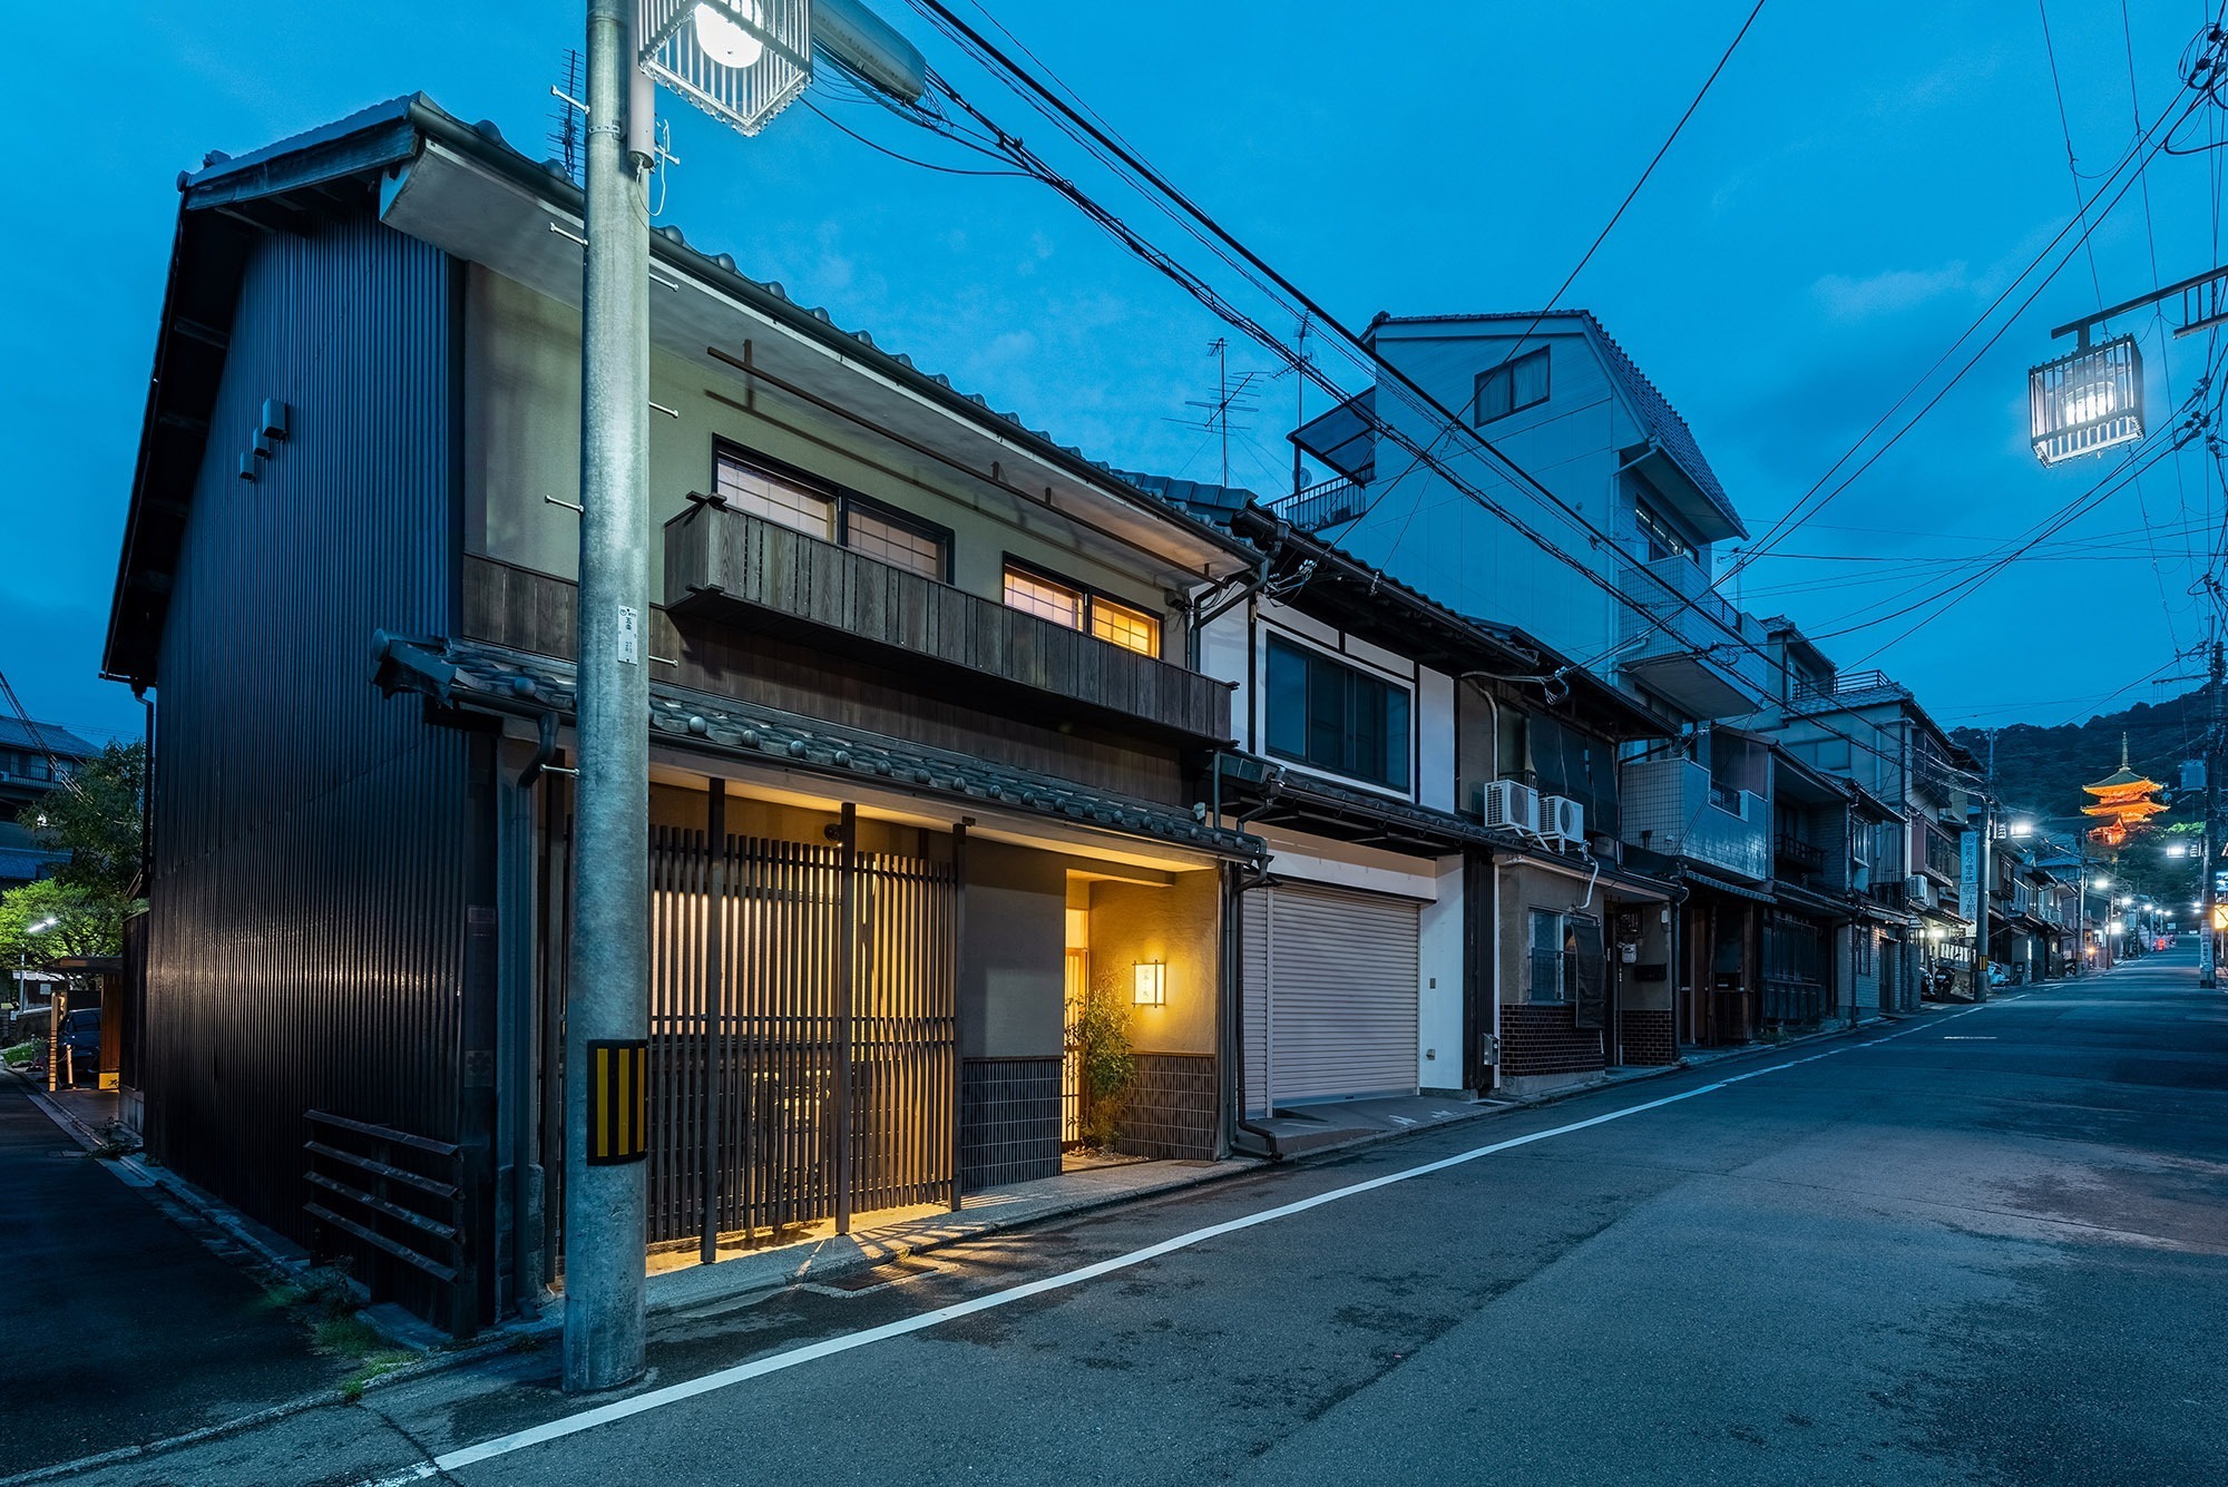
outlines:
[{"label": "closed pale metal roller shutter on the white-walled building", "polygon": [[1245,1109],[1415,1089],[1419,906],[1277,884],[1245,897]]}]

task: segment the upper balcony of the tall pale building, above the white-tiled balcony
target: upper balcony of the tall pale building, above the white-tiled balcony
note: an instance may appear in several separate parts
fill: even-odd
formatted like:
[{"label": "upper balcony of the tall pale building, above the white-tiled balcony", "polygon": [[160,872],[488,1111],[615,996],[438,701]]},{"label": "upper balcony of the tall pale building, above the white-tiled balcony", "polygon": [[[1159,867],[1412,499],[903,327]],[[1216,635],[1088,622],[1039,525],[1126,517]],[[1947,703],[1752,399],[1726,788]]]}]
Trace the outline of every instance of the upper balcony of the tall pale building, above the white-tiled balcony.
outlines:
[{"label": "upper balcony of the tall pale building, above the white-tiled balcony", "polygon": [[[1618,666],[1693,717],[1740,717],[1765,695],[1762,626],[1724,601],[1687,557],[1622,559]],[[1758,650],[1751,650],[1756,646]]]}]

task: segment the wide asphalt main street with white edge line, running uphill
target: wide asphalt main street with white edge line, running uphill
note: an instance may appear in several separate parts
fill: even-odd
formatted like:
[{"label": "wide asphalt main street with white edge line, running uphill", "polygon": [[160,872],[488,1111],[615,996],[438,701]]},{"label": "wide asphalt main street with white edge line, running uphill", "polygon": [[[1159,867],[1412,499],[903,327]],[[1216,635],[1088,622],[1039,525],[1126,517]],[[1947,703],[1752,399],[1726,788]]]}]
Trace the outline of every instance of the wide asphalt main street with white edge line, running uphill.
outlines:
[{"label": "wide asphalt main street with white edge line, running uphill", "polygon": [[2161,957],[931,1260],[668,1318],[593,1425],[544,1349],[82,1480],[2221,1483],[2228,995]]}]

